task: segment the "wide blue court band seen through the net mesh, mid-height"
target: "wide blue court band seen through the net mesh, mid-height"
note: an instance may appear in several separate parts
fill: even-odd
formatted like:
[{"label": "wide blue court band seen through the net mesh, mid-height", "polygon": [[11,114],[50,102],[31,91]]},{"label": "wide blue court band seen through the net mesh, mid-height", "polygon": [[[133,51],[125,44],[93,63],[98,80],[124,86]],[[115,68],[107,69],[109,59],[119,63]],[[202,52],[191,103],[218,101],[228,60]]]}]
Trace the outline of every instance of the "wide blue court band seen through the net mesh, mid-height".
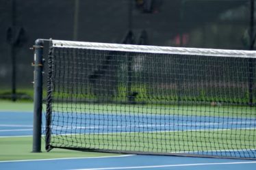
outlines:
[{"label": "wide blue court band seen through the net mesh, mid-height", "polygon": [[[73,118],[73,120],[68,120]],[[156,115],[156,114],[84,114],[53,113],[52,130],[55,134],[159,132],[192,130],[255,129],[254,118]],[[86,126],[89,125],[89,126]],[[73,128],[75,127],[75,128]]]}]

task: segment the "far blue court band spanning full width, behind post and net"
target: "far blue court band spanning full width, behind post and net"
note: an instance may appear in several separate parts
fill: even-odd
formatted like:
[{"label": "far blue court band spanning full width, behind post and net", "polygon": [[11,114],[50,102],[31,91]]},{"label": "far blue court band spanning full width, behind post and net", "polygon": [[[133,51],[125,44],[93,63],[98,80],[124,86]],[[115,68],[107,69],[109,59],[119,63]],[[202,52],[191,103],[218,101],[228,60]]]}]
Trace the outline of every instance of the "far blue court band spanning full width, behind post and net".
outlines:
[{"label": "far blue court band spanning full width, behind post and net", "polygon": [[[256,128],[256,119],[253,118],[77,113],[55,113],[54,115],[53,134]],[[33,114],[31,112],[0,111],[0,116],[0,137],[32,134]],[[42,122],[45,122],[44,116]]]}]

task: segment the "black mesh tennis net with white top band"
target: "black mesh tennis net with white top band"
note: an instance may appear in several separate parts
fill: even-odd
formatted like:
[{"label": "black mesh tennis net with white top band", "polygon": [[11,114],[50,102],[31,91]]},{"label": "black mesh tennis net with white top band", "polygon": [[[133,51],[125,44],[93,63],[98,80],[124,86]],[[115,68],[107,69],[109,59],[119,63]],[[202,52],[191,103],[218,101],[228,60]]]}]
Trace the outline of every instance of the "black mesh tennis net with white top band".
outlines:
[{"label": "black mesh tennis net with white top band", "polygon": [[256,158],[256,52],[50,44],[47,150]]}]

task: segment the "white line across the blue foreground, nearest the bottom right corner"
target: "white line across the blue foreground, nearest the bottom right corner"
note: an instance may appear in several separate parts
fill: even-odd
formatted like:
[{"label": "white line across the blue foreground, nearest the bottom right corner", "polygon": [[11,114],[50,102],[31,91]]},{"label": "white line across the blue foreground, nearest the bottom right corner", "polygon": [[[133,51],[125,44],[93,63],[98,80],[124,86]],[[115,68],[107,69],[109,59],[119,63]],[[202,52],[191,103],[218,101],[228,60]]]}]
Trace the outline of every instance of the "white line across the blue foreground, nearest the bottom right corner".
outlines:
[{"label": "white line across the blue foreground, nearest the bottom right corner", "polygon": [[251,162],[216,162],[216,163],[195,163],[195,164],[177,164],[177,165],[152,165],[152,166],[140,166],[140,167],[108,167],[108,168],[90,168],[90,169],[72,169],[72,170],[107,170],[107,169],[148,169],[148,168],[161,168],[161,167],[192,167],[202,165],[237,165],[237,164],[253,164],[256,161]]}]

